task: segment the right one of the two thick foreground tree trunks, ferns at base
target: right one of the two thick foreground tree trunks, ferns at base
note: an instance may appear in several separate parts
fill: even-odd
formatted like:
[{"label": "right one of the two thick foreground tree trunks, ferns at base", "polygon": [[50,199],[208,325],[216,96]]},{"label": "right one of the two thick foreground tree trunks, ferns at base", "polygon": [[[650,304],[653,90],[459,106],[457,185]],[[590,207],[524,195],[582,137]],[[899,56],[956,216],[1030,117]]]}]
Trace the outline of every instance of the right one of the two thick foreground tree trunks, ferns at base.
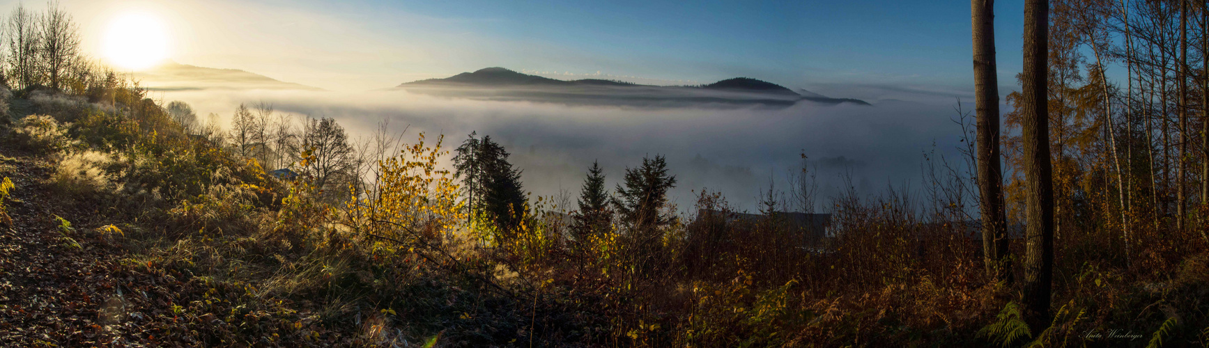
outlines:
[{"label": "right one of the two thick foreground tree trunks, ferns at base", "polygon": [[1025,320],[1041,332],[1049,323],[1053,276],[1053,164],[1049,162],[1048,79],[1049,1],[1024,2],[1024,71],[1020,102],[1024,108],[1020,138],[1024,140],[1025,234],[1024,296]]}]

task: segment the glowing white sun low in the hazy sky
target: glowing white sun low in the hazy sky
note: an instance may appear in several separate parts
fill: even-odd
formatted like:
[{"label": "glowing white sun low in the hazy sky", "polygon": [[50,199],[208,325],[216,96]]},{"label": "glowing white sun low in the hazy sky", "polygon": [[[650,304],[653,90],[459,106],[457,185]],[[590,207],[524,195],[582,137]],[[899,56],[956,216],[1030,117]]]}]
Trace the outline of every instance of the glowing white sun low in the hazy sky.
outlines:
[{"label": "glowing white sun low in the hazy sky", "polygon": [[117,16],[104,40],[105,58],[118,68],[144,70],[168,58],[168,30],[150,13]]}]

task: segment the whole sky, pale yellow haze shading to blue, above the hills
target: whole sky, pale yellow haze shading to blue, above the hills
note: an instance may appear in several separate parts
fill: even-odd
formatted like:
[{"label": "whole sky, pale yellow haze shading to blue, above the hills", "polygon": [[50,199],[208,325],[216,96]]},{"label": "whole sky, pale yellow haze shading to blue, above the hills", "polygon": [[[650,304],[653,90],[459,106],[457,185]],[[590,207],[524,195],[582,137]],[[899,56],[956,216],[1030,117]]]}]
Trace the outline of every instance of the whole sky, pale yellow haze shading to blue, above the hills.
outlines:
[{"label": "whole sky, pale yellow haze shading to blue, above the hills", "polygon": [[[0,4],[11,5],[5,0]],[[167,23],[172,59],[334,91],[486,66],[701,83],[748,76],[866,99],[972,89],[970,6],[953,1],[63,0],[99,51],[122,12]],[[27,1],[41,8],[41,1]],[[1014,86],[1019,0],[999,1]],[[11,8],[11,6],[6,6]],[[626,77],[629,79],[629,77]],[[906,94],[904,94],[906,93]]]}]

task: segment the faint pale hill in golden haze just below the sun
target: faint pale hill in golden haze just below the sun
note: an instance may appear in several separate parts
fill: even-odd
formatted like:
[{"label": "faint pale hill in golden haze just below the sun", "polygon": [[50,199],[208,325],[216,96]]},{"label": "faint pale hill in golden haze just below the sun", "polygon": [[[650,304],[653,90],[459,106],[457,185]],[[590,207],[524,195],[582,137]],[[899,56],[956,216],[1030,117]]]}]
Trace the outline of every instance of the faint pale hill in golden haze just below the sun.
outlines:
[{"label": "faint pale hill in golden haze just below the sun", "polygon": [[268,76],[237,69],[214,69],[175,62],[135,71],[134,80],[151,91],[201,91],[201,89],[297,89],[323,91],[320,88],[282,82]]}]

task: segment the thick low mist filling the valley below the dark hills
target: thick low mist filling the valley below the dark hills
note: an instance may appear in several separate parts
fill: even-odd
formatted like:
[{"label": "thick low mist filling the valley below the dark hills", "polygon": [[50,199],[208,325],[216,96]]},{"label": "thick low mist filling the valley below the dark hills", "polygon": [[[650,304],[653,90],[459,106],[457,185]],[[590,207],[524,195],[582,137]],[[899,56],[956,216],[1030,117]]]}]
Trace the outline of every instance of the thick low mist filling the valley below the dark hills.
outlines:
[{"label": "thick low mist filling the valley below the dark hills", "polygon": [[[175,91],[155,98],[190,103],[203,120],[220,115],[230,126],[239,103],[271,103],[277,111],[332,117],[351,139],[368,138],[381,122],[415,141],[420,132],[446,137],[452,150],[470,132],[491,135],[523,169],[525,188],[534,196],[567,195],[571,202],[592,161],[600,161],[608,185],[620,182],[626,167],[643,156],[664,155],[678,184],[671,191],[681,209],[694,192],[721,192],[740,210],[756,210],[770,182],[787,188],[787,174],[803,164],[816,169],[827,197],[840,192],[850,174],[861,195],[889,185],[920,186],[924,153],[956,160],[961,134],[953,105],[881,102],[872,106],[816,103],[768,108],[568,106],[531,102],[442,98],[404,91]],[[803,155],[806,160],[803,160]],[[568,207],[568,209],[572,209]]]}]

